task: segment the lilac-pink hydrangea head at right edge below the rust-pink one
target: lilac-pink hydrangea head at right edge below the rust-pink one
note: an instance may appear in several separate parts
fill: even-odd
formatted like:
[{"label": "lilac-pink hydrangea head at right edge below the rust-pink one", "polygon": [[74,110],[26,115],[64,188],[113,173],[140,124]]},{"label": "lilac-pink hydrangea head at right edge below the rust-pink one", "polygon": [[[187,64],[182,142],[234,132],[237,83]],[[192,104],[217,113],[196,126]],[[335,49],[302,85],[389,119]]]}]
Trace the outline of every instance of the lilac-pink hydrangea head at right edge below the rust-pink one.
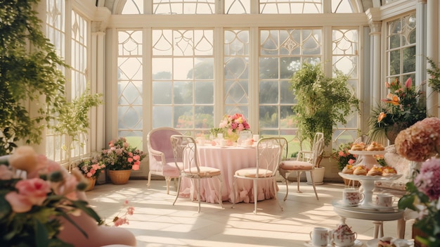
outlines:
[{"label": "lilac-pink hydrangea head at right edge below the rust-pink one", "polygon": [[415,177],[414,184],[431,200],[436,200],[440,197],[439,177],[440,158],[431,158],[420,167],[420,173]]}]

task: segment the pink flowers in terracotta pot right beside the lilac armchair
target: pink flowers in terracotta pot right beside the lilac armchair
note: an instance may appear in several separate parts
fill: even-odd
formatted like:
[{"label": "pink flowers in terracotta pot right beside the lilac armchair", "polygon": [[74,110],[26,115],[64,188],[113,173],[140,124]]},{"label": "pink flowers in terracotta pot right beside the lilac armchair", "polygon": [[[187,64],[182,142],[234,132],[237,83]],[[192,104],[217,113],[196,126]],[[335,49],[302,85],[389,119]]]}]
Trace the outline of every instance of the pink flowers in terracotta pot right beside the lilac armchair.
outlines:
[{"label": "pink flowers in terracotta pot right beside the lilac armchair", "polygon": [[141,160],[145,158],[146,154],[138,148],[132,147],[125,137],[113,139],[108,147],[101,153],[108,175],[113,184],[126,184],[129,181],[131,170],[139,170]]}]

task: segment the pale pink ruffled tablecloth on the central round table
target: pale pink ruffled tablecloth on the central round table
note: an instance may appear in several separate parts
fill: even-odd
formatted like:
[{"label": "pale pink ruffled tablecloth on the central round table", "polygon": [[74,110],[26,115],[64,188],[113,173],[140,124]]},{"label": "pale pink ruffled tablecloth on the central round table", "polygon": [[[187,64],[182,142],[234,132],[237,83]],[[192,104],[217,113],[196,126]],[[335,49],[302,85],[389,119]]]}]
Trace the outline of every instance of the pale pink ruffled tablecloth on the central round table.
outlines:
[{"label": "pale pink ruffled tablecloth on the central round table", "polygon": [[[221,170],[223,175],[223,191],[222,201],[233,202],[232,184],[233,175],[236,170],[245,167],[255,167],[257,163],[257,148],[232,147],[226,146],[221,148],[219,146],[198,146],[198,160],[200,166],[216,167]],[[193,191],[194,184],[190,179],[183,178],[181,182],[180,196],[190,198],[193,194],[193,199],[197,199],[197,194]],[[200,182],[200,196],[202,201],[209,203],[218,203],[220,183],[215,177],[213,179],[201,179]],[[237,189],[238,188],[238,189]],[[259,181],[258,184],[258,201],[273,198],[276,191],[273,190],[273,184],[270,180]],[[235,186],[236,203],[254,202],[254,190],[252,180],[237,179]]]}]

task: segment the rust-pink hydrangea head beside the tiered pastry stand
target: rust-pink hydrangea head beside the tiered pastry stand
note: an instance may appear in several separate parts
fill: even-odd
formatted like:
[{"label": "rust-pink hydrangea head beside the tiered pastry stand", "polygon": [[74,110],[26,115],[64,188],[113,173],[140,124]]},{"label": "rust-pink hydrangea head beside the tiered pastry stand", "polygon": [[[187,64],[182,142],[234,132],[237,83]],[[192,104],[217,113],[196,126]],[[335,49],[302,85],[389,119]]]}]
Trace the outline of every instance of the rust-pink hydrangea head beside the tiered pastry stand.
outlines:
[{"label": "rust-pink hydrangea head beside the tiered pastry stand", "polygon": [[402,130],[395,140],[396,151],[408,160],[422,162],[438,153],[440,119],[425,118]]}]

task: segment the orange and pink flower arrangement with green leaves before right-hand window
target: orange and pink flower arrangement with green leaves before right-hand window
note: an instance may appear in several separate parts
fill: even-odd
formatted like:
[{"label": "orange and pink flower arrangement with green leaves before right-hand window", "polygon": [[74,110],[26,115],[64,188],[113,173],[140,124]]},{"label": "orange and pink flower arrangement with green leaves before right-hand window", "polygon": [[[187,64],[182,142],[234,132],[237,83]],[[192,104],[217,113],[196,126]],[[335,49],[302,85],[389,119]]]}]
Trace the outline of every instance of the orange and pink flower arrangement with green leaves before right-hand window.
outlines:
[{"label": "orange and pink flower arrangement with green leaves before right-hand window", "polygon": [[385,87],[389,89],[389,94],[370,114],[369,136],[370,139],[380,139],[386,135],[394,144],[394,138],[401,129],[426,118],[426,108],[420,100],[423,92],[415,88],[411,77],[405,84],[399,78],[385,82]]}]

